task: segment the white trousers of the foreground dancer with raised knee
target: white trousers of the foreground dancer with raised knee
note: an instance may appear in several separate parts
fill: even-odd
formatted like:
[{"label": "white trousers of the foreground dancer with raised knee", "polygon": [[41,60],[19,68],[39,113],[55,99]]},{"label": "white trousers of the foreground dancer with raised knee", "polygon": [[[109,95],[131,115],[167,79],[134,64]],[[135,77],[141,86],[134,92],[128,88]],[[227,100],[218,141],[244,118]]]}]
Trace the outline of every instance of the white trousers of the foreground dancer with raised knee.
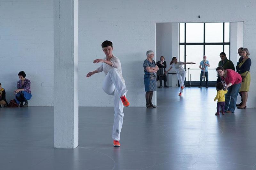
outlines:
[{"label": "white trousers of the foreground dancer with raised knee", "polygon": [[112,138],[114,140],[120,140],[120,132],[122,130],[123,125],[123,118],[124,118],[124,105],[120,99],[121,96],[126,96],[126,86],[122,81],[118,71],[116,68],[112,68],[109,70],[108,74],[106,75],[102,89],[108,95],[114,96],[114,125],[112,131]]}]

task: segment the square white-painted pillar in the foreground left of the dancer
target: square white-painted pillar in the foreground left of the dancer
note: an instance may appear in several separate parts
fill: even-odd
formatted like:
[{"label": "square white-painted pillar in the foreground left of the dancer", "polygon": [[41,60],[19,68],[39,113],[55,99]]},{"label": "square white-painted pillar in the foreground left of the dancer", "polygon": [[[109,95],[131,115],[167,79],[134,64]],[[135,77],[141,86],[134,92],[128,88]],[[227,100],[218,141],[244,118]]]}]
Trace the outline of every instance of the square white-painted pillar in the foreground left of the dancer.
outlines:
[{"label": "square white-painted pillar in the foreground left of the dancer", "polygon": [[78,0],[54,0],[54,147],[78,146]]}]

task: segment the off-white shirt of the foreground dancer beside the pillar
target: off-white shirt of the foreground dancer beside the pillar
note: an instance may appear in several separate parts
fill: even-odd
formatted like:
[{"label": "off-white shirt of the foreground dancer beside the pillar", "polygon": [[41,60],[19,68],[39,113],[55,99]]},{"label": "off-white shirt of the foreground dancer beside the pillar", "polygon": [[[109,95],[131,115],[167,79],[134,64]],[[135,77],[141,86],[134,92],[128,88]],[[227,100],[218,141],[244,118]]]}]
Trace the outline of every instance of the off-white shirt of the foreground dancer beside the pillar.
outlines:
[{"label": "off-white shirt of the foreground dancer beside the pillar", "polygon": [[[104,60],[106,60],[106,57],[104,58]],[[109,70],[112,68],[116,68],[122,81],[124,82],[124,78],[122,75],[122,66],[121,66],[121,62],[119,60],[119,58],[117,58],[116,56],[113,55],[113,57],[110,59],[110,62],[112,63],[112,66],[109,66],[106,63],[102,63],[100,67],[97,68],[98,72],[104,72],[105,75],[108,74]]]}]

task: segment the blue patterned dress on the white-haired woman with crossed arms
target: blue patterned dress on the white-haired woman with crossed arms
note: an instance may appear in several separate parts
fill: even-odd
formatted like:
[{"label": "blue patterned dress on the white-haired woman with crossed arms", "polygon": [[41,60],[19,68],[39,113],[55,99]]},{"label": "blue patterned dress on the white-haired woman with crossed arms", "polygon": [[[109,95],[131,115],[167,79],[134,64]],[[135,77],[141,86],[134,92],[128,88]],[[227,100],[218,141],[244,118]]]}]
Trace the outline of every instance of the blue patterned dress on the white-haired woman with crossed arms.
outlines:
[{"label": "blue patterned dress on the white-haired woman with crossed arms", "polygon": [[156,91],[156,73],[149,73],[146,70],[146,67],[156,67],[156,62],[152,60],[150,62],[148,59],[146,59],[143,63],[144,67],[144,85],[145,85],[145,91]]}]

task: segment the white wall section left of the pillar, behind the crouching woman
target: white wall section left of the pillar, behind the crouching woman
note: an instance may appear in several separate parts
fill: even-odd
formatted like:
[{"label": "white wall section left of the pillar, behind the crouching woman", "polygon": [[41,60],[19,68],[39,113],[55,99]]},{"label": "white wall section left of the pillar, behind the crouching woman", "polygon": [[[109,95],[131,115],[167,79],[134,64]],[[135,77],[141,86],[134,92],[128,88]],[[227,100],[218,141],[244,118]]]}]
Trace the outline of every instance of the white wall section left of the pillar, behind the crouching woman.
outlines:
[{"label": "white wall section left of the pillar, behind the crouching woman", "polygon": [[18,73],[31,80],[30,106],[53,105],[53,1],[0,0],[0,82],[14,99]]}]

